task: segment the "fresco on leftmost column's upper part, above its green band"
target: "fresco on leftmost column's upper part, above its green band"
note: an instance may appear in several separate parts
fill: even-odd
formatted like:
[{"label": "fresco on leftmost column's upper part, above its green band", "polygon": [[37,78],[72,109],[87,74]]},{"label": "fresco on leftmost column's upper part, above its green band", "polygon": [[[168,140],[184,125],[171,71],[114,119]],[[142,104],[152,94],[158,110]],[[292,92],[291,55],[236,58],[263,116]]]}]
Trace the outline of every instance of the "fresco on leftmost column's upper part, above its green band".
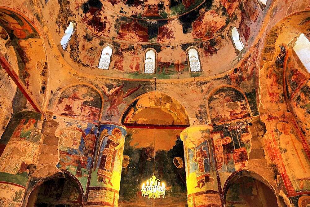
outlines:
[{"label": "fresco on leftmost column's upper part, above its green band", "polygon": [[1,138],[0,172],[17,174],[38,159],[41,115],[25,111],[13,117]]}]

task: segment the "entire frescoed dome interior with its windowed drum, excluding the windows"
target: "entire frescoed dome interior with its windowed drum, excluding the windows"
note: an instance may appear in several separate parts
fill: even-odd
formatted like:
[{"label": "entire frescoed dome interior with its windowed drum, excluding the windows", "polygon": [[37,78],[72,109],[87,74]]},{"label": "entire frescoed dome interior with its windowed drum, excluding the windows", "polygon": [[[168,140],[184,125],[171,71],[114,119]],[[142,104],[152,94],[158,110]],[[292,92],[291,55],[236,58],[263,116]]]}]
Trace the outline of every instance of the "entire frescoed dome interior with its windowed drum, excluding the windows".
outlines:
[{"label": "entire frescoed dome interior with its windowed drum, excluding the windows", "polygon": [[[50,28],[51,35],[64,60],[82,73],[125,79],[226,73],[250,49],[269,6],[262,7],[257,0],[51,2],[42,5],[43,15],[56,24]],[[70,22],[74,24],[73,33],[67,47],[61,48],[60,40]],[[233,27],[244,45],[241,51],[232,42]],[[102,51],[107,45],[112,49],[106,61],[109,65],[101,69],[100,57],[106,55]],[[191,73],[190,48],[197,50],[199,59],[200,70],[195,73]],[[154,67],[145,73],[149,49],[155,52]]]}]

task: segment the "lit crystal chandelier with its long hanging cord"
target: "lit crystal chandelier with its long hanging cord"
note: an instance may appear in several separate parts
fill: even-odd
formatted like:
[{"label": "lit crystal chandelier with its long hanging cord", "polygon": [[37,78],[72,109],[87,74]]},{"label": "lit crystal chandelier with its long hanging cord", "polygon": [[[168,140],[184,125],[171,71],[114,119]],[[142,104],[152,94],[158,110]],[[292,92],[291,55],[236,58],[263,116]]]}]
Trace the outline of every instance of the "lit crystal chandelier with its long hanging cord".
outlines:
[{"label": "lit crystal chandelier with its long hanging cord", "polygon": [[146,182],[146,186],[143,183],[142,184],[142,196],[148,196],[148,199],[150,198],[160,198],[160,196],[164,197],[165,196],[165,184],[162,183],[162,186],[160,186],[159,179],[156,179],[155,176],[155,128],[154,128],[154,165],[153,165],[153,176],[152,178],[148,179]]}]

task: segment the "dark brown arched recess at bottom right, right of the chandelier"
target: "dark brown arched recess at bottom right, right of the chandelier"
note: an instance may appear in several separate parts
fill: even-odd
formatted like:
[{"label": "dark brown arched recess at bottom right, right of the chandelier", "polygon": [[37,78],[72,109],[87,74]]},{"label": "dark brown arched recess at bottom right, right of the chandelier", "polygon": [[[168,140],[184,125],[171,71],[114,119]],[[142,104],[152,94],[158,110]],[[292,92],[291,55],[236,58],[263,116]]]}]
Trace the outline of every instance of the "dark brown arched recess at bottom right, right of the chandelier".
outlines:
[{"label": "dark brown arched recess at bottom right, right of the chandelier", "polygon": [[274,188],[261,175],[241,170],[231,174],[224,184],[225,206],[278,206]]}]

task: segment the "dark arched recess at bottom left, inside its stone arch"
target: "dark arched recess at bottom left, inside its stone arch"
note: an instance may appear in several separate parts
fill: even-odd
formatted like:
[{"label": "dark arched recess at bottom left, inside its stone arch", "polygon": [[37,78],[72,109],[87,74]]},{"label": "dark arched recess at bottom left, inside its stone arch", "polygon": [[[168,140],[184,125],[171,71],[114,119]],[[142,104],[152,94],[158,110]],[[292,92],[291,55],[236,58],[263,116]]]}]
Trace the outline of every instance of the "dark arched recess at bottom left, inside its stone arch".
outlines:
[{"label": "dark arched recess at bottom left, inside its stone arch", "polygon": [[26,194],[24,196],[24,202],[27,202],[24,206],[27,207],[36,206],[37,203],[80,206],[86,201],[81,183],[67,170],[39,180],[28,195],[28,198]]}]

